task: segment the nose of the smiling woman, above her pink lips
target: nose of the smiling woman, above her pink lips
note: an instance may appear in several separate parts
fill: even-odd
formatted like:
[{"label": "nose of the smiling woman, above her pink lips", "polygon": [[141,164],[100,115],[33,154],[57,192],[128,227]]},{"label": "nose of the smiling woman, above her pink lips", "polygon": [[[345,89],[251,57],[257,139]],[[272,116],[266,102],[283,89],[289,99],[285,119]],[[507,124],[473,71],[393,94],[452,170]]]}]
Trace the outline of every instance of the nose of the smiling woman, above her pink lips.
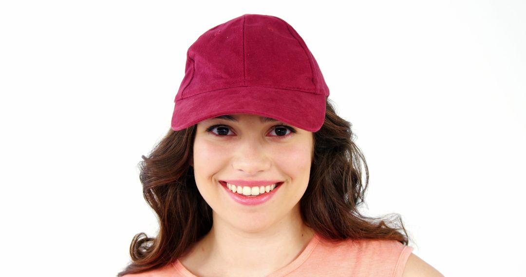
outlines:
[{"label": "nose of the smiling woman, above her pink lips", "polygon": [[271,165],[272,162],[264,143],[254,138],[239,142],[232,158],[232,167],[246,175],[268,171]]}]

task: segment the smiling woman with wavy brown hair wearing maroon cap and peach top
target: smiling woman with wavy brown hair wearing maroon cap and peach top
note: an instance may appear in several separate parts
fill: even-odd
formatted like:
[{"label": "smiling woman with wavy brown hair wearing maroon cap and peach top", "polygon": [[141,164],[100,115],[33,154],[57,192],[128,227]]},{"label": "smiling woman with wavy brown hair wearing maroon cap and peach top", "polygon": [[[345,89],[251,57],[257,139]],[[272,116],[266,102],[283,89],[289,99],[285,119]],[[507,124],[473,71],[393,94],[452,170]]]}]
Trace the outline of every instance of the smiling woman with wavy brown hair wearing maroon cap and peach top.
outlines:
[{"label": "smiling woman with wavy brown hair wearing maroon cap and peach top", "polygon": [[171,130],[141,164],[158,236],[135,236],[119,276],[441,276],[403,225],[359,214],[367,165],[328,95],[280,18],[201,35]]}]

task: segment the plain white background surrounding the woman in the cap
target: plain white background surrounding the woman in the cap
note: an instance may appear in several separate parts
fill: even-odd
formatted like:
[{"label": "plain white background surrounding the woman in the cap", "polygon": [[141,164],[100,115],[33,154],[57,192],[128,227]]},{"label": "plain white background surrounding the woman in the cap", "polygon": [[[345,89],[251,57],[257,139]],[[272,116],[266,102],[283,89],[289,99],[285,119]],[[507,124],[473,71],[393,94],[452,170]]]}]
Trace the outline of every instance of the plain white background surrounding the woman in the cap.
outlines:
[{"label": "plain white background surrounding the woman in the cap", "polygon": [[157,231],[137,163],[169,130],[186,51],[251,13],[316,57],[370,166],[367,214],[402,215],[447,276],[524,276],[525,2],[320,3],[3,1],[2,275],[125,267]]}]

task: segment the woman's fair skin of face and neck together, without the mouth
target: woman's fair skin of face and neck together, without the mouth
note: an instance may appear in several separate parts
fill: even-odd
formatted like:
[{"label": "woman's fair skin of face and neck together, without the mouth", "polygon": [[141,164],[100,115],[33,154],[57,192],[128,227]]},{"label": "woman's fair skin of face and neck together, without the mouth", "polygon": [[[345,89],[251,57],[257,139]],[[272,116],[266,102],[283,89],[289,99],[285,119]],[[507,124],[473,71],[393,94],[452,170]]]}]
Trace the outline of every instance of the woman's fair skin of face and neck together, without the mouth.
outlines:
[{"label": "woman's fair skin of face and neck together, without the mouth", "polygon": [[[181,263],[199,276],[265,276],[294,261],[314,233],[299,210],[312,150],[311,132],[263,116],[232,114],[198,123],[194,175],[214,224]],[[245,206],[219,184],[224,179],[284,183],[266,203]]]}]

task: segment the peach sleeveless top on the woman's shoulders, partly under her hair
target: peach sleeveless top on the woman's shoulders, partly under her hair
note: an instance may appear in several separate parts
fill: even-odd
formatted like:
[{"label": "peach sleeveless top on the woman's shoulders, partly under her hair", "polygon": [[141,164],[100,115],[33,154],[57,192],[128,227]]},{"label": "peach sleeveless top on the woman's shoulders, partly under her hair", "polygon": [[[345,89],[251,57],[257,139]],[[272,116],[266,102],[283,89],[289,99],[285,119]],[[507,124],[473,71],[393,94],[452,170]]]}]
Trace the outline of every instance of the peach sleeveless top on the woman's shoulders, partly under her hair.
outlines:
[{"label": "peach sleeveless top on the woman's shoulders, partly under her hair", "polygon": [[[278,276],[389,276],[401,277],[413,248],[394,240],[331,242],[314,235],[307,247]],[[125,277],[196,277],[177,260],[163,268]]]}]

